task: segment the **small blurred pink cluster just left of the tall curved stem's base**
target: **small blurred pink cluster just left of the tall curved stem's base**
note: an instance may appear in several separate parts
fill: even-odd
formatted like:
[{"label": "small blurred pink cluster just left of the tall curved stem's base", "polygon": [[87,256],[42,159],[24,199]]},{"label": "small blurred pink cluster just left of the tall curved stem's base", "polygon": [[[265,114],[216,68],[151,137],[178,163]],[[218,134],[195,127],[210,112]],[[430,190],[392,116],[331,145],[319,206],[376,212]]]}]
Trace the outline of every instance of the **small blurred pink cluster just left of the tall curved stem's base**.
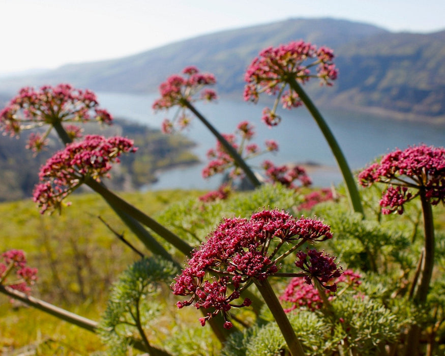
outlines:
[{"label": "small blurred pink cluster just left of the tall curved stem's base", "polygon": [[[281,165],[276,166],[271,161],[263,162],[265,175],[270,183],[279,183],[289,189],[298,189],[299,187],[307,187],[312,184],[306,170],[299,165]],[[300,181],[300,184],[296,184]]]}]

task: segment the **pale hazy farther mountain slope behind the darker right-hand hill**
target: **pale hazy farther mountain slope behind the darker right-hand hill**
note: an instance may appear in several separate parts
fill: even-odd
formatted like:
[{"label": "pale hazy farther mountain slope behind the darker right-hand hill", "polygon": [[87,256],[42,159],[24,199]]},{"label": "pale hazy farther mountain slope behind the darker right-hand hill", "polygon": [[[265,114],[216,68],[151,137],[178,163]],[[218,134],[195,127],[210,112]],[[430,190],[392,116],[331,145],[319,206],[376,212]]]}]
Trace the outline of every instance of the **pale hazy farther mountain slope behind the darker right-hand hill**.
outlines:
[{"label": "pale hazy farther mountain slope behind the darker right-hand hill", "polygon": [[26,78],[2,80],[0,92],[24,83],[68,81],[96,91],[153,92],[169,74],[186,65],[216,74],[219,90],[242,87],[247,65],[259,50],[295,39],[333,48],[385,33],[381,28],[333,19],[289,19],[200,36],[117,60],[67,65]]}]

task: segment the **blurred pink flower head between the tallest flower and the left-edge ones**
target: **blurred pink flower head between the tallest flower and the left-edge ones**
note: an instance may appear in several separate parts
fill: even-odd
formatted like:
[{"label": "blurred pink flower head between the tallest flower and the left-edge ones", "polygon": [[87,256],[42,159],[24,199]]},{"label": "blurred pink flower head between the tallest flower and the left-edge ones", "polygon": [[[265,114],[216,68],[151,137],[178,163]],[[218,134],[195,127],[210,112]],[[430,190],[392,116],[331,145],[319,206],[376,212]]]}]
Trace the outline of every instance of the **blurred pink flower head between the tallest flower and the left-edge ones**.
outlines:
[{"label": "blurred pink flower head between the tallest flower and the left-edge ones", "polygon": [[[153,109],[168,110],[173,106],[182,108],[175,120],[168,118],[162,123],[162,131],[171,133],[175,128],[184,129],[190,124],[190,117],[186,112],[186,102],[193,103],[198,100],[214,101],[217,94],[214,90],[204,88],[216,83],[215,76],[211,73],[201,73],[196,67],[186,67],[184,76],[172,75],[159,86],[161,98],[153,103]],[[197,95],[199,93],[199,95]]]}]

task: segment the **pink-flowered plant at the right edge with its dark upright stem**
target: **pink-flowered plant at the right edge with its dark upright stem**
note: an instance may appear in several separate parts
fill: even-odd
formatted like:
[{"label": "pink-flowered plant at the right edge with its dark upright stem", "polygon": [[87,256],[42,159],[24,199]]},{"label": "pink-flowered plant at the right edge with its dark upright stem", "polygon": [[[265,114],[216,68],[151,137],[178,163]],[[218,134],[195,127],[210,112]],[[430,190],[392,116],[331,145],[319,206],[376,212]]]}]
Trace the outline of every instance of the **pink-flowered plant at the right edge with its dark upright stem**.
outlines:
[{"label": "pink-flowered plant at the right edge with its dark upright stem", "polygon": [[[434,223],[432,205],[445,202],[445,149],[425,144],[396,150],[383,156],[359,174],[360,183],[369,187],[375,183],[385,184],[380,200],[383,214],[404,213],[404,205],[417,197],[422,203],[424,221],[424,248],[420,257],[419,275],[414,276],[417,287],[414,302],[426,303],[434,269]],[[405,354],[417,352],[420,327],[413,324],[407,338]]]}]

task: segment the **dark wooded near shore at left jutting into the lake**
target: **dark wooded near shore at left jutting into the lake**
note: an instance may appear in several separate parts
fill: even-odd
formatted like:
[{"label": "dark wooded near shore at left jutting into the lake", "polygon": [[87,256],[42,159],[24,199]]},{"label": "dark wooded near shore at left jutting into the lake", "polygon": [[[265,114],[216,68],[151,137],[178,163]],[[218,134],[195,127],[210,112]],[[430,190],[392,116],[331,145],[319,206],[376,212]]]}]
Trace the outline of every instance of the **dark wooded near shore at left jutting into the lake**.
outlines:
[{"label": "dark wooded near shore at left jutting into the lake", "polygon": [[[119,119],[111,127],[100,128],[95,124],[84,127],[85,134],[128,136],[138,147],[135,154],[123,155],[121,164],[114,165],[111,180],[106,180],[107,186],[114,190],[139,189],[156,182],[159,169],[199,161],[191,152],[195,144],[181,135],[164,135],[160,130]],[[54,134],[49,137],[48,149],[35,156],[25,149],[26,139],[27,133],[23,133],[19,139],[0,139],[0,202],[31,197],[38,183],[40,166],[56,150],[62,149],[62,144]]]}]

